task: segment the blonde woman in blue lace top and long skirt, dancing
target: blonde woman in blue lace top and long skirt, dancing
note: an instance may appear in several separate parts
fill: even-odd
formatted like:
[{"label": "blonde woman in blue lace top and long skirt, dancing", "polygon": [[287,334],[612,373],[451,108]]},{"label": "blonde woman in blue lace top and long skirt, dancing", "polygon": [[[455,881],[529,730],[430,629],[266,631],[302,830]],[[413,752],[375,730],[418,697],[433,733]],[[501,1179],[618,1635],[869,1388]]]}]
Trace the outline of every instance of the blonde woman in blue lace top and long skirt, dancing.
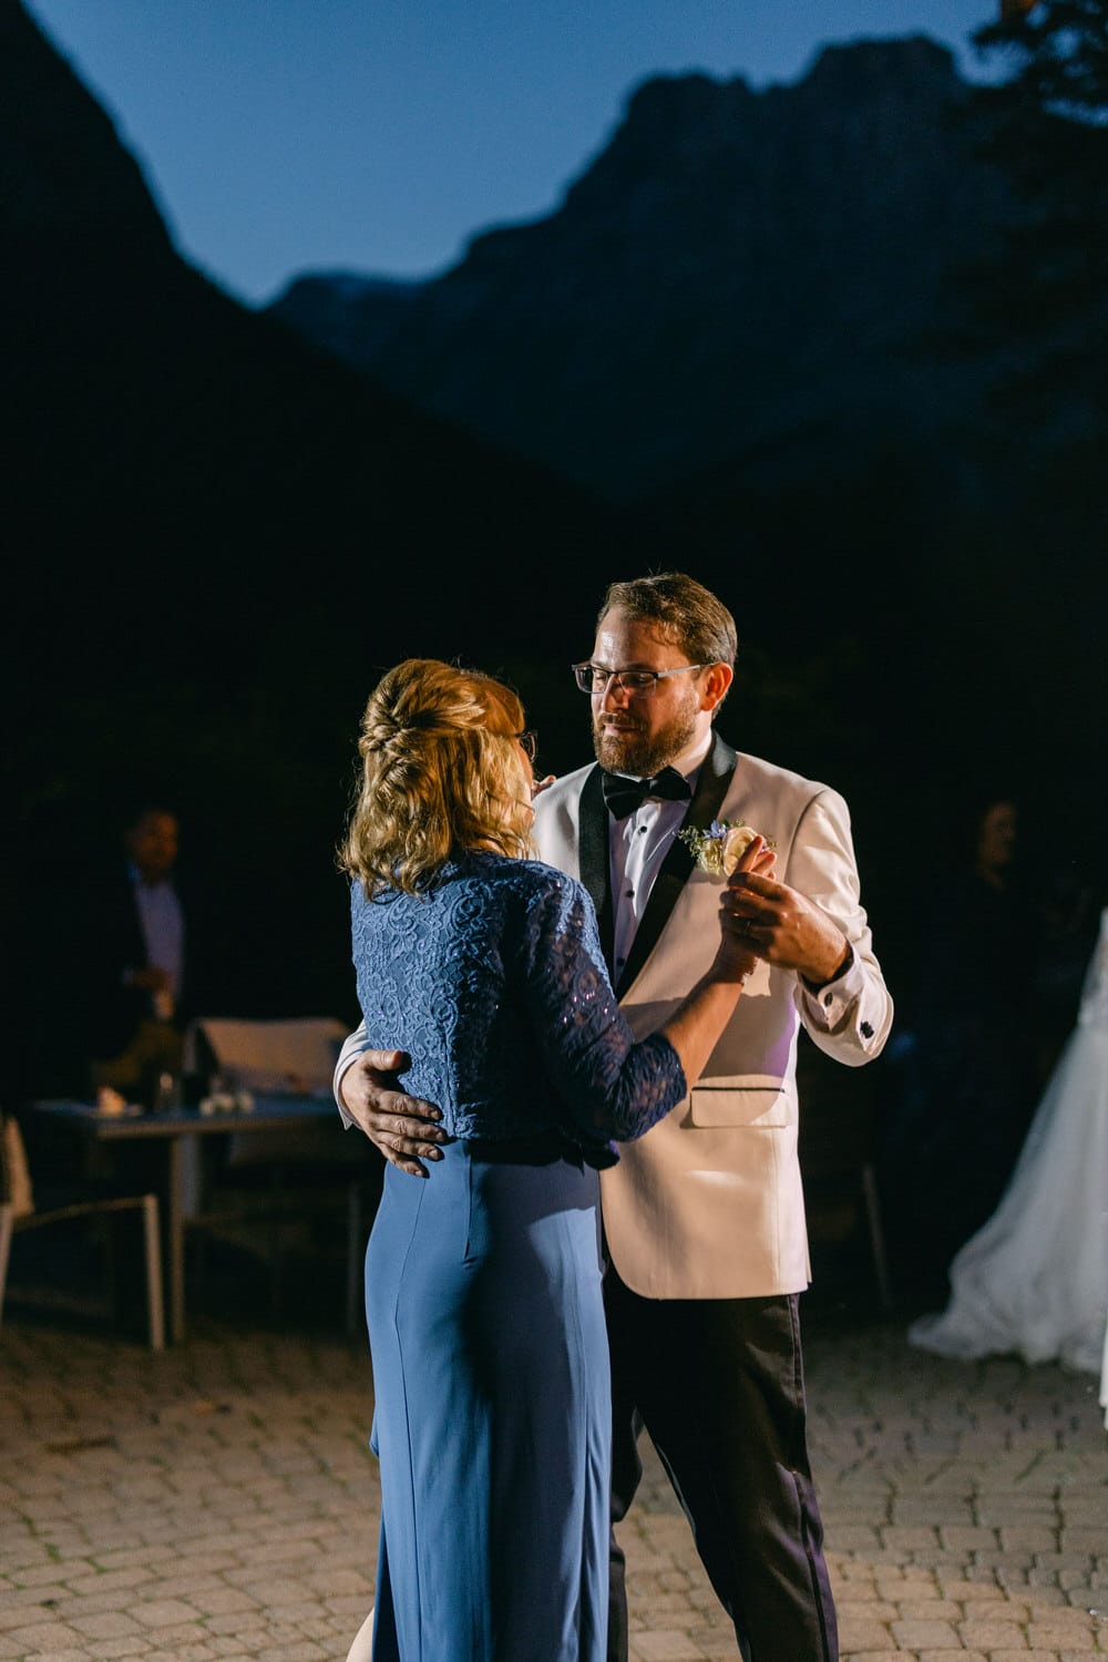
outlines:
[{"label": "blonde woman in blue lace top and long skirt, dancing", "polygon": [[[688,1092],[754,959],[635,1040],[580,883],[530,859],[507,686],[407,660],[370,695],[341,863],[370,1044],[453,1142],[385,1168],[365,1255],[380,1466],[374,1662],[603,1662],[610,1391],[596,1170]],[[741,871],[767,871],[761,838]]]}]

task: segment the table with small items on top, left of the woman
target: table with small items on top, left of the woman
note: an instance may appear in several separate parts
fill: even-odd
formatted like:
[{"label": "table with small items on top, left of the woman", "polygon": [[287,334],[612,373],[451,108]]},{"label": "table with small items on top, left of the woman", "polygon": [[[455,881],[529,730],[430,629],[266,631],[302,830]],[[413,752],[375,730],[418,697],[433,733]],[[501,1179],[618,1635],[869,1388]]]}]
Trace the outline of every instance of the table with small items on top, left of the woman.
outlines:
[{"label": "table with small items on top, left of the woman", "polygon": [[28,1105],[40,1115],[76,1132],[90,1148],[121,1142],[161,1142],[166,1148],[166,1303],[169,1340],[184,1338],[184,1225],[188,1218],[184,1145],[189,1137],[266,1137],[271,1132],[307,1130],[322,1122],[342,1137],[334,1097],[256,1097],[254,1109],[234,1114],[201,1114],[176,1109],[169,1114],[101,1114],[88,1102],[42,1100]]}]

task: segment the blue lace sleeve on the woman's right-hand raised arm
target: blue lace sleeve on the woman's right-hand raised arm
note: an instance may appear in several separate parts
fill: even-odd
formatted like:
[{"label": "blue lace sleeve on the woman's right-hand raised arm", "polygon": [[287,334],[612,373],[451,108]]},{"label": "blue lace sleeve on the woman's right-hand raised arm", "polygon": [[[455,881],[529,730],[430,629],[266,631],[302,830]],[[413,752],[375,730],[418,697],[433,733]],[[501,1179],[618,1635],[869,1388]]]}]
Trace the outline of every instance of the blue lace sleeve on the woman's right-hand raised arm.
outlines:
[{"label": "blue lace sleeve on the woman's right-hand raised arm", "polygon": [[661,1034],[636,1040],[600,947],[591,897],[550,874],[527,907],[520,981],[548,1080],[585,1138],[633,1142],[686,1095],[684,1070]]}]

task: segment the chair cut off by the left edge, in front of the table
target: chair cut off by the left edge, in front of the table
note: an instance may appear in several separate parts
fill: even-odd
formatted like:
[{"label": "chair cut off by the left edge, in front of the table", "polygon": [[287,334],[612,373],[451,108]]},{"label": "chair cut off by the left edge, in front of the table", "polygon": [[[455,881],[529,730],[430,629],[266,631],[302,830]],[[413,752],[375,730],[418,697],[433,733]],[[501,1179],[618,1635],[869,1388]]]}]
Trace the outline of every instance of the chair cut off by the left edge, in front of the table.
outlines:
[{"label": "chair cut off by the left edge, in front of the table", "polygon": [[158,1197],[153,1193],[120,1195],[105,1190],[76,1188],[70,1193],[58,1192],[50,1197],[43,1190],[37,1200],[23,1133],[15,1115],[5,1114],[3,1137],[0,1138],[0,1323],[3,1321],[8,1261],[15,1235],[43,1230],[50,1225],[70,1223],[76,1218],[113,1218],[125,1212],[141,1212],[143,1215],[146,1328],[150,1348],[159,1351],[166,1345],[166,1326]]}]

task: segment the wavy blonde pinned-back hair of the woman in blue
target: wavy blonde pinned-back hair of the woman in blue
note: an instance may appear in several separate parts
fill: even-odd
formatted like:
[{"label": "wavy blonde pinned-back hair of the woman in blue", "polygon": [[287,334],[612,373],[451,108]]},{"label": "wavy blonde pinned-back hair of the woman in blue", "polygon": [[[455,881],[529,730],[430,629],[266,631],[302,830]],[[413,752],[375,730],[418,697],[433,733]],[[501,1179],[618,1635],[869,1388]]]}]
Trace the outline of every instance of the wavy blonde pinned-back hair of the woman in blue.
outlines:
[{"label": "wavy blonde pinned-back hair of the woman in blue", "polygon": [[419,894],[452,854],[533,853],[523,705],[490,675],[405,658],[365,705],[362,779],[339,866],[372,899]]}]

